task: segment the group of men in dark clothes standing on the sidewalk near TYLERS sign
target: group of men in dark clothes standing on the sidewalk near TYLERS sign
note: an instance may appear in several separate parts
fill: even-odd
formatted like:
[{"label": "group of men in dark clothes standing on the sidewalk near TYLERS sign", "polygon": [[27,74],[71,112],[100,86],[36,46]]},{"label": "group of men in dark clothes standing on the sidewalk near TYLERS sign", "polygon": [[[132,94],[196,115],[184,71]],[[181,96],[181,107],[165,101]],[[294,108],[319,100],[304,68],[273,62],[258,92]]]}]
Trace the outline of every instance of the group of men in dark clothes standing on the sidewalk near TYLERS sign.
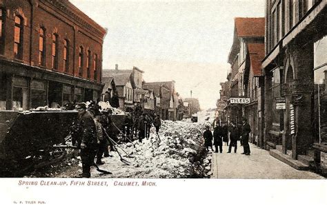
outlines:
[{"label": "group of men in dark clothes standing on the sidewalk near TYLERS sign", "polygon": [[[232,147],[234,147],[234,153],[237,153],[237,140],[241,140],[241,145],[243,145],[244,152],[241,154],[250,155],[250,145],[248,144],[249,136],[250,136],[251,128],[248,124],[246,118],[242,119],[241,127],[237,127],[235,122],[230,122],[230,126],[223,125],[219,123],[219,120],[216,120],[216,125],[212,132],[210,131],[210,125],[206,125],[206,131],[204,131],[204,146],[207,151],[209,151],[209,147],[212,149],[212,139],[213,145],[215,146],[215,153],[223,152],[223,141],[224,138],[227,138],[228,142],[228,133],[230,138],[230,143],[228,147],[228,152],[231,153]],[[226,142],[226,141],[225,141]],[[219,148],[219,149],[218,149]]]}]

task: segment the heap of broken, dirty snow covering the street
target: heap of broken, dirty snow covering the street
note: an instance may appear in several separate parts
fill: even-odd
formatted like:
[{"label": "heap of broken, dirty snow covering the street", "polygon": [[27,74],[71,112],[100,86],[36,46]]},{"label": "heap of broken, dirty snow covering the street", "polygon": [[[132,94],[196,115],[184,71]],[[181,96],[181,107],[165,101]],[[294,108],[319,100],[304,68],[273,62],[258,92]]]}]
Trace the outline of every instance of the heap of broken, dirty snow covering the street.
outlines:
[{"label": "heap of broken, dirty snow covering the street", "polygon": [[[201,130],[201,123],[163,121],[159,138],[152,127],[150,139],[143,139],[119,144],[126,153],[117,147],[124,160],[120,161],[117,152],[111,151],[112,158],[103,158],[100,169],[112,172],[101,175],[92,169],[92,177],[141,177],[141,178],[176,178],[206,177],[210,171],[210,160],[206,158]],[[135,147],[133,146],[135,145]],[[206,158],[206,159],[204,159]]]}]

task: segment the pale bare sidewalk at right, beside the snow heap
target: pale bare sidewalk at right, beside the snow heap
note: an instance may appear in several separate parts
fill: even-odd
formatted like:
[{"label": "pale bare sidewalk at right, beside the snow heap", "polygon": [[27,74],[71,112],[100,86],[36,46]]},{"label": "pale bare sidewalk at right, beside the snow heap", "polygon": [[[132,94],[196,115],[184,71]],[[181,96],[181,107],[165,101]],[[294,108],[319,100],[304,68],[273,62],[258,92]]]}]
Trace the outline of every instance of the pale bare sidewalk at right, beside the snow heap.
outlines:
[{"label": "pale bare sidewalk at right, beside the snow heap", "polygon": [[[225,142],[224,142],[225,143]],[[250,155],[242,155],[243,147],[237,144],[237,153],[212,153],[211,178],[216,179],[326,179],[310,171],[299,171],[273,158],[269,151],[250,144]]]}]

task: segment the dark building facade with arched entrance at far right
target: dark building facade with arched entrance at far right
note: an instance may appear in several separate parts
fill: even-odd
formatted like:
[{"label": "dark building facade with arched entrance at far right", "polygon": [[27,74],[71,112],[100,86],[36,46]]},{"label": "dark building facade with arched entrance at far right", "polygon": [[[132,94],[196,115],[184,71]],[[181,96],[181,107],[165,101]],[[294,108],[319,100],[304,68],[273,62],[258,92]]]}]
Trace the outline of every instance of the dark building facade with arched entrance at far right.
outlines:
[{"label": "dark building facade with arched entrance at far right", "polygon": [[[266,1],[262,119],[267,149],[281,147],[299,160],[316,144],[327,168],[326,12],[326,1]],[[276,109],[280,100],[284,106]]]}]

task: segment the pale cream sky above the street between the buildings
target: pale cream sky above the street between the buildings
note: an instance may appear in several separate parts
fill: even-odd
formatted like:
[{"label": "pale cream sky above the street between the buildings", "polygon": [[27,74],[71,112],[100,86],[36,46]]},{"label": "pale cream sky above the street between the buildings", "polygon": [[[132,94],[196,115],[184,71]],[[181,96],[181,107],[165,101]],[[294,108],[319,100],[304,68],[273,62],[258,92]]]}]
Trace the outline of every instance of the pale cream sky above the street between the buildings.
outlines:
[{"label": "pale cream sky above the street between the buildings", "polygon": [[108,30],[103,69],[144,71],[146,82],[175,80],[182,98],[215,108],[230,65],[235,17],[264,17],[264,0],[70,0]]}]

